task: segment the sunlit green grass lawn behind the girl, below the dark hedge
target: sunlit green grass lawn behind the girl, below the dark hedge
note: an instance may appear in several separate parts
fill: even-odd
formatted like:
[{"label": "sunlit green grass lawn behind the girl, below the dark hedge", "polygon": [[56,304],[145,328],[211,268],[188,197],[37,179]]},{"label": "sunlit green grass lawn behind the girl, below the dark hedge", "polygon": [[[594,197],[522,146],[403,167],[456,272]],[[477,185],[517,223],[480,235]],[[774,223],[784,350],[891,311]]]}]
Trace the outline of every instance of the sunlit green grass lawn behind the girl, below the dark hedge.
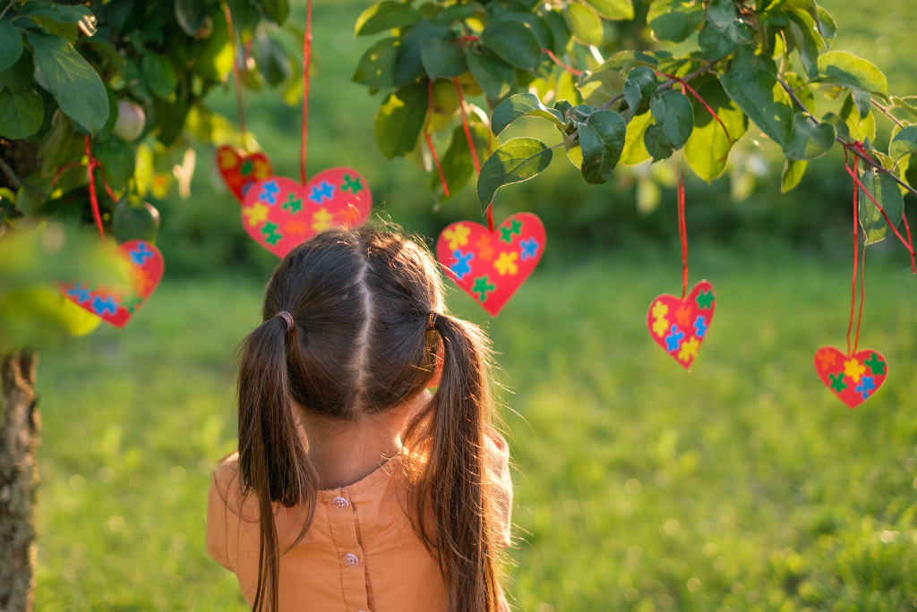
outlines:
[{"label": "sunlit green grass lawn behind the girl, below the dark hedge", "polygon": [[[519,606],[913,609],[910,270],[867,262],[860,344],[890,376],[852,411],[812,369],[819,346],[844,344],[845,268],[693,255],[718,309],[685,373],[645,327],[653,297],[679,289],[676,261],[546,261],[489,323],[510,390]],[[204,554],[204,508],[235,443],[231,353],[260,281],[167,281],[126,330],[44,352],[39,610],[245,609]],[[450,305],[488,321],[464,295]]]}]

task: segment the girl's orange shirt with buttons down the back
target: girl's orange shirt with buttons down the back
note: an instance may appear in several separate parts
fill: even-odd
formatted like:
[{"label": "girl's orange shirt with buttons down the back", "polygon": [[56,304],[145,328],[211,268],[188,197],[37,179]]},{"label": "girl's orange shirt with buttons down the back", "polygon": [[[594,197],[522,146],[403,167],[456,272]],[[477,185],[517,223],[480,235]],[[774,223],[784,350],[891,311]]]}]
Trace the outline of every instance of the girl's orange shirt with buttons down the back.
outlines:
[{"label": "girl's orange shirt with buttons down the back", "polygon": [[[510,545],[513,483],[509,448],[496,432],[487,437],[497,541]],[[305,537],[282,554],[280,612],[433,612],[446,609],[436,560],[417,538],[403,510],[403,479],[396,455],[357,483],[318,491],[315,518]],[[224,501],[225,500],[225,501]],[[276,504],[275,504],[276,506]],[[298,508],[275,517],[281,551],[299,534]],[[254,603],[258,584],[258,502],[243,502],[238,454],[216,466],[207,499],[207,553],[236,574]],[[505,607],[505,604],[503,604]]]}]

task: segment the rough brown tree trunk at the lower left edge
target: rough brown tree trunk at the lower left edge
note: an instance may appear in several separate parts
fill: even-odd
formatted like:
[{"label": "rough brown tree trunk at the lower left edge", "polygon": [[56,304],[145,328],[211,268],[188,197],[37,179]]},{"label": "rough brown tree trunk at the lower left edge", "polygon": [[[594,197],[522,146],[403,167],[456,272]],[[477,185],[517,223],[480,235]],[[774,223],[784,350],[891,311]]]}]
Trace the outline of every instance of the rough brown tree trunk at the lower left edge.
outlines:
[{"label": "rough brown tree trunk at the lower left edge", "polygon": [[31,612],[35,601],[38,364],[38,353],[28,349],[0,360],[0,612]]}]

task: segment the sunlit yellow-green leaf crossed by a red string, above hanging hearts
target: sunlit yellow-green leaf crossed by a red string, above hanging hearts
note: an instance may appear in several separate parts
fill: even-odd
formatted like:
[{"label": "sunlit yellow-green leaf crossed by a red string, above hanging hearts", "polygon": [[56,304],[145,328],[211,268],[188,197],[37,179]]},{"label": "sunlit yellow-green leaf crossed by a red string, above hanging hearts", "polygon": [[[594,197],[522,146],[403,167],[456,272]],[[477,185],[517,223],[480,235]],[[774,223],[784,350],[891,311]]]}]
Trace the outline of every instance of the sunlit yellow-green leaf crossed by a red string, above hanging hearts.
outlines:
[{"label": "sunlit yellow-green leaf crossed by a red string, above hanging hearts", "polygon": [[723,85],[715,76],[704,75],[691,83],[729,130],[727,137],[723,126],[720,126],[703,104],[696,98],[691,99],[694,129],[685,143],[685,160],[699,177],[711,182],[723,174],[732,145],[745,136],[748,117],[726,95]]}]

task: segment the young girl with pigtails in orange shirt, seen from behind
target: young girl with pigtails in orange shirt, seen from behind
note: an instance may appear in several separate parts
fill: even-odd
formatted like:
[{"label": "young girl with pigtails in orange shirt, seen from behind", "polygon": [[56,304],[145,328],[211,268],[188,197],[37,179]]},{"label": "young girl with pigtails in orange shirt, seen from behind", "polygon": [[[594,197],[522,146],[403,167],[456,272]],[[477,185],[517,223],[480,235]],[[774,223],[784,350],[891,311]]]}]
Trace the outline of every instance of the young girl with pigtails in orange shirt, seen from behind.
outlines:
[{"label": "young girl with pigtails in orange shirt, seen from behind", "polygon": [[238,453],[207,502],[207,552],[249,606],[508,610],[489,346],[445,312],[428,251],[327,230],[283,259],[262,316],[241,353]]}]

